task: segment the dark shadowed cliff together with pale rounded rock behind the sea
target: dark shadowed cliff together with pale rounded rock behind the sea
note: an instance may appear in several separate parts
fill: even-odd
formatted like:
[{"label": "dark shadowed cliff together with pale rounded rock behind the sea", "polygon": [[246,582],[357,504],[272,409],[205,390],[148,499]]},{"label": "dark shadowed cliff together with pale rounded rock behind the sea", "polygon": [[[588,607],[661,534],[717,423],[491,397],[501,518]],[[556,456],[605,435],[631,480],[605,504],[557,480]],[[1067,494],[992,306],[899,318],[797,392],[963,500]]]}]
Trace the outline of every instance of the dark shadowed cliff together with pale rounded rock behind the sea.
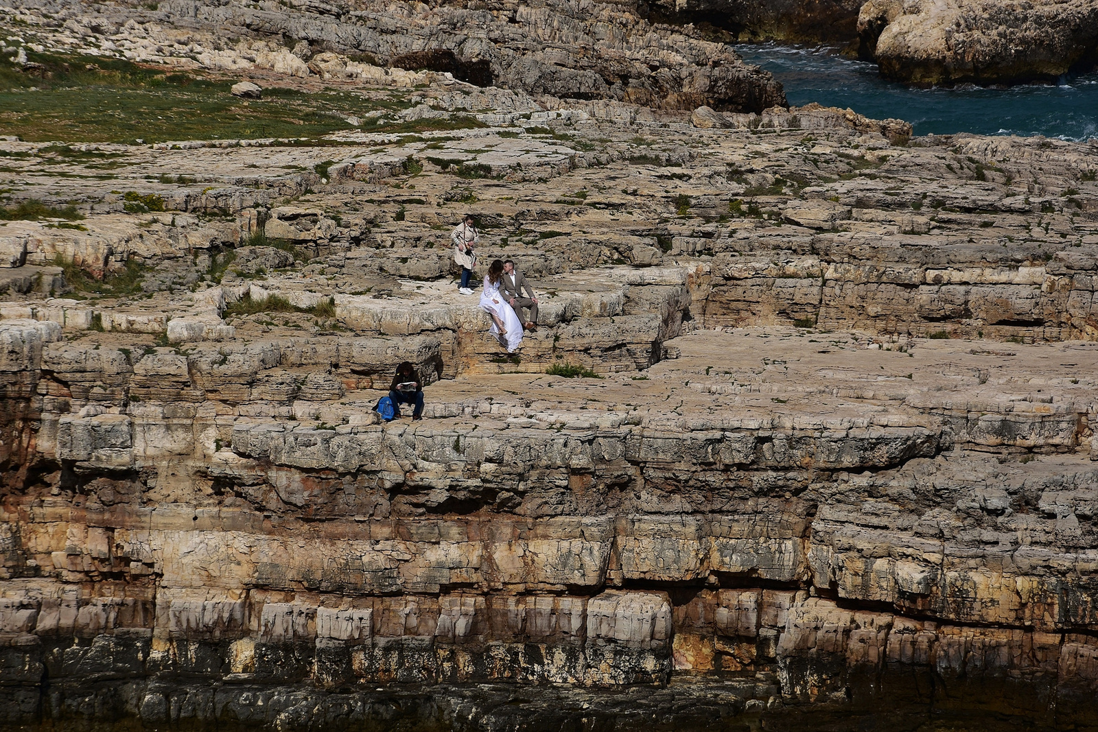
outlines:
[{"label": "dark shadowed cliff together with pale rounded rock behind the sea", "polygon": [[685,0],[652,8],[729,41],[833,46],[919,87],[1056,81],[1098,63],[1091,0]]}]

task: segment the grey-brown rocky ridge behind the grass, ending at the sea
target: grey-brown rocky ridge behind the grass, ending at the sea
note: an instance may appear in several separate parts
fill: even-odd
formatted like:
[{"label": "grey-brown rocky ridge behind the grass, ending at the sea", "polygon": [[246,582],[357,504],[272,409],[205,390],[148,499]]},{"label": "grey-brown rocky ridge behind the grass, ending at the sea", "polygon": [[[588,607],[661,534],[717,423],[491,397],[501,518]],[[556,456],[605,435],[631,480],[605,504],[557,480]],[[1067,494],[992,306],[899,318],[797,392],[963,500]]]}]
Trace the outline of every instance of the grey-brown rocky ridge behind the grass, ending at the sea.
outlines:
[{"label": "grey-brown rocky ridge behind the grass, ending at the sea", "polygon": [[[219,71],[266,68],[309,77],[324,74],[325,54],[338,52],[356,56],[341,72],[360,78],[393,78],[379,66],[427,69],[480,87],[668,110],[709,104],[761,112],[785,103],[770,74],[743,64],[724,44],[688,27],[651,24],[614,3],[167,0],[149,11],[139,3],[89,10],[46,1],[22,5],[16,16],[41,23],[51,45],[121,49],[134,60],[197,61]],[[289,40],[292,52],[271,37]]]}]

